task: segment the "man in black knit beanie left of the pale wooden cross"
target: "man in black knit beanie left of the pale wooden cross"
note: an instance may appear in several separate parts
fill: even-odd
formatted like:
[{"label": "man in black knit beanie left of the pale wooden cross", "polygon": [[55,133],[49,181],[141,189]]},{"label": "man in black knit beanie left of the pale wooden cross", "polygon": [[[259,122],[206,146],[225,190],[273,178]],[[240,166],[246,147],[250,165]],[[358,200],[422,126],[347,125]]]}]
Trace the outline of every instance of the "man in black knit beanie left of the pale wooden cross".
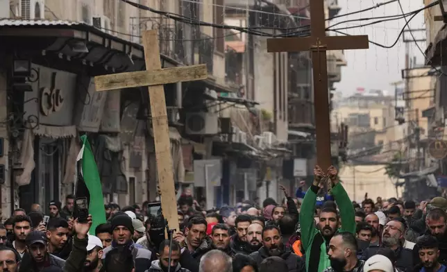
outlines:
[{"label": "man in black knit beanie left of the pale wooden cross", "polygon": [[145,248],[136,248],[132,240],[133,225],[132,219],[127,214],[118,214],[110,221],[112,225],[112,244],[103,250],[103,260],[113,248],[128,247],[132,251],[133,261],[135,262],[135,272],[144,272],[151,266],[151,261],[156,257],[152,256],[151,251]]}]

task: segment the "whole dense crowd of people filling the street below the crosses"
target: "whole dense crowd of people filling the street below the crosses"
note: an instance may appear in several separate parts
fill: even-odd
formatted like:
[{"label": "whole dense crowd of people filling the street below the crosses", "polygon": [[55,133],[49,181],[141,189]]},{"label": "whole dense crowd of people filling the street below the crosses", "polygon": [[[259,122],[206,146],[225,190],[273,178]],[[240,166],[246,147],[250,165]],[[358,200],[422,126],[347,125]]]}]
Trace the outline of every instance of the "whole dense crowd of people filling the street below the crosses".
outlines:
[{"label": "whole dense crowd of people filling the street below the crosses", "polygon": [[447,199],[350,200],[330,167],[284,201],[246,200],[205,210],[190,192],[178,199],[180,229],[140,207],[106,205],[107,223],[73,219],[65,206],[17,209],[0,225],[0,271],[49,272],[444,272]]}]

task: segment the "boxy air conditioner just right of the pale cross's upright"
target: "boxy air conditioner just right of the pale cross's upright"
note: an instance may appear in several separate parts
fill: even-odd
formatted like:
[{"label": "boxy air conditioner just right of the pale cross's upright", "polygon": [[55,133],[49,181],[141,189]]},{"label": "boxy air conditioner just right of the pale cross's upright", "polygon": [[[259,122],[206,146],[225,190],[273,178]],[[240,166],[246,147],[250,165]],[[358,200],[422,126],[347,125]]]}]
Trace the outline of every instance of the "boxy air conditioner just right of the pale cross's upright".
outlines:
[{"label": "boxy air conditioner just right of the pale cross's upright", "polygon": [[185,118],[188,135],[216,135],[219,133],[219,117],[214,112],[189,112]]}]

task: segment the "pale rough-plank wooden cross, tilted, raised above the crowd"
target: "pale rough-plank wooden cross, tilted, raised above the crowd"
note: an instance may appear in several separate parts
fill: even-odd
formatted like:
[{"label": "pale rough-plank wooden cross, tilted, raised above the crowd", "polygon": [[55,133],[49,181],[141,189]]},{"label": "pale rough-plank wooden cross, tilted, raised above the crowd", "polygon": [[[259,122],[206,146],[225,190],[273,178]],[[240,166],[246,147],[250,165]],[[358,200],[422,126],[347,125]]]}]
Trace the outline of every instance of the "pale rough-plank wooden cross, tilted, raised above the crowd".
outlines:
[{"label": "pale rough-plank wooden cross, tilted, raised above the crowd", "polygon": [[157,31],[143,32],[143,46],[146,71],[96,76],[94,83],[96,91],[149,86],[153,142],[162,195],[162,212],[168,221],[169,229],[180,231],[163,84],[205,79],[208,78],[208,71],[206,65],[162,69]]}]

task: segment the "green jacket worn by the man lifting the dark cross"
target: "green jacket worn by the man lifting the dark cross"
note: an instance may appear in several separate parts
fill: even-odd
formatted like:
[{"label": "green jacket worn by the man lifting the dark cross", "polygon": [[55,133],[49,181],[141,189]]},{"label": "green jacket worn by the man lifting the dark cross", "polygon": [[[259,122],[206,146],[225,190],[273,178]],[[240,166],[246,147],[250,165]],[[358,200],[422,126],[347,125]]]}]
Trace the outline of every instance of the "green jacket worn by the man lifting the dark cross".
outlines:
[{"label": "green jacket worn by the man lifting the dark cross", "polygon": [[[301,205],[300,213],[301,244],[305,250],[306,271],[308,272],[322,272],[330,266],[330,260],[326,249],[326,243],[329,243],[329,241],[324,241],[323,235],[321,235],[321,232],[315,228],[314,223],[314,210],[315,203],[317,203],[318,189],[319,188],[317,186],[312,185],[312,187],[307,190]],[[349,199],[348,194],[346,194],[346,191],[340,182],[332,187],[331,194],[334,196],[340,211],[341,228],[339,229],[339,232],[348,231],[355,234],[355,210],[353,203],[351,203],[351,199]],[[317,235],[319,236],[317,237]],[[318,238],[317,241],[315,241],[316,237]],[[314,241],[317,243],[321,242],[319,248],[319,266],[318,271],[309,271],[309,263],[311,262],[312,255],[312,244]],[[314,252],[317,252],[317,250],[315,250],[317,246],[318,245],[315,245],[313,247]],[[315,261],[316,259],[317,256],[312,257],[312,260]]]}]

